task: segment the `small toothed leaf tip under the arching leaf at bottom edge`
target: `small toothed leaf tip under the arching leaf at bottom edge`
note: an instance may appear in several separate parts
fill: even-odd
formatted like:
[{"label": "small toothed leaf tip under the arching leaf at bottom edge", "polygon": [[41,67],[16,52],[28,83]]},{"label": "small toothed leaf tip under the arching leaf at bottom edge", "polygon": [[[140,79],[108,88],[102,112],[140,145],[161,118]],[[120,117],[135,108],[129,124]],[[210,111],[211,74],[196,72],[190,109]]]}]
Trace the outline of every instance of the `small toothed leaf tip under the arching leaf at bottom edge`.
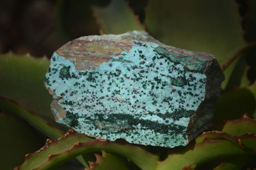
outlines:
[{"label": "small toothed leaf tip under the arching leaf at bottom edge", "polygon": [[[102,150],[102,156],[95,154],[97,161],[90,162],[90,170],[129,170],[127,159]],[[89,169],[86,169],[89,170]]]}]

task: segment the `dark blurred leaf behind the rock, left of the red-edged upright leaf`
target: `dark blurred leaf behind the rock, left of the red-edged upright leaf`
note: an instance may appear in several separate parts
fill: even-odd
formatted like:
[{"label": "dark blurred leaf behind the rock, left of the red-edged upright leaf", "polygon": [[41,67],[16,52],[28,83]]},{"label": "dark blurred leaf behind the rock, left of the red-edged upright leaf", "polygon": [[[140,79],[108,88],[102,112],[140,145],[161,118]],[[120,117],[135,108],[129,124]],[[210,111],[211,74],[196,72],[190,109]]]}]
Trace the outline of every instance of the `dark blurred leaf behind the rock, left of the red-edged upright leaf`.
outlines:
[{"label": "dark blurred leaf behind the rock, left of the red-edged upright leaf", "polygon": [[[92,0],[58,0],[55,29],[62,44],[85,35],[98,35],[99,28],[90,10]],[[100,2],[108,3],[108,2]],[[59,47],[61,44],[59,45]]]}]

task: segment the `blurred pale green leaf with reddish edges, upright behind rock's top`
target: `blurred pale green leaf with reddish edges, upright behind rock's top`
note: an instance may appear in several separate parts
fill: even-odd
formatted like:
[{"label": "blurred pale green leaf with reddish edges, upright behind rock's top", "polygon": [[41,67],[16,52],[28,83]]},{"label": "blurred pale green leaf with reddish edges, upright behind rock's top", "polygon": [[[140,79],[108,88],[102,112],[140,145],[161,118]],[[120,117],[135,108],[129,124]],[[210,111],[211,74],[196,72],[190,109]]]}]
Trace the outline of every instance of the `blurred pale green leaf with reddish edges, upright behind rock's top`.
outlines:
[{"label": "blurred pale green leaf with reddish edges, upright behind rock's top", "polygon": [[112,0],[106,7],[92,7],[101,34],[122,34],[127,31],[145,30],[124,0]]}]

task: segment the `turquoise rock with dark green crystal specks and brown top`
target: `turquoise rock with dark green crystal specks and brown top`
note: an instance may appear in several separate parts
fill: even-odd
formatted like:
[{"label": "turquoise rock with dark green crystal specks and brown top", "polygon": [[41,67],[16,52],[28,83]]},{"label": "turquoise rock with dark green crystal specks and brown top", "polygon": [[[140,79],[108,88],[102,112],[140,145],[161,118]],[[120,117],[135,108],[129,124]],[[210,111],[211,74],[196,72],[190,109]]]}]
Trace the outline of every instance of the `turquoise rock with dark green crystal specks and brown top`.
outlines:
[{"label": "turquoise rock with dark green crystal specks and brown top", "polygon": [[52,55],[44,83],[59,123],[100,139],[172,148],[211,125],[223,80],[214,56],[134,31],[68,42]]}]

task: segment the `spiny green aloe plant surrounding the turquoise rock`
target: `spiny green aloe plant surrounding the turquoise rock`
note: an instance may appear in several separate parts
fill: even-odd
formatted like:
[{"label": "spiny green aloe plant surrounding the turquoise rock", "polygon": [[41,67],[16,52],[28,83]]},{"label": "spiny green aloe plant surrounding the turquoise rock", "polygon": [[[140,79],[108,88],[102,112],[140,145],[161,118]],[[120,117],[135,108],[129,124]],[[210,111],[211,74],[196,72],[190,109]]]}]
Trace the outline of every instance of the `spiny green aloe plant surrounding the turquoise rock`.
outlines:
[{"label": "spiny green aloe plant surrounding the turquoise rock", "polygon": [[[214,13],[206,11],[204,11],[205,16],[201,16],[201,11],[198,13],[191,11],[190,17],[194,22],[209,17],[215,20],[215,23],[204,20],[208,23],[203,24],[200,28],[201,32],[198,32],[197,25],[193,25],[189,30],[179,29],[179,26],[185,26],[182,20],[186,16],[184,18],[180,16],[179,20],[170,19],[168,17],[173,16],[180,9],[173,7],[171,11],[166,10],[170,4],[178,6],[174,2],[163,5],[157,1],[148,0],[144,25],[140,23],[125,1],[112,0],[105,7],[92,6],[102,34],[119,34],[129,30],[144,29],[167,44],[185,49],[189,49],[189,41],[191,42],[189,35],[194,35],[199,43],[195,44],[191,50],[217,55],[226,81],[222,84],[222,94],[215,104],[214,124],[207,132],[199,135],[186,147],[173,149],[129,144],[124,140],[102,141],[76,133],[64,125],[57,124],[50,112],[52,98],[43,85],[49,59],[34,58],[30,55],[20,56],[9,52],[0,55],[1,169],[255,169],[256,82],[250,82],[247,78],[249,66],[246,62],[248,54],[256,50],[255,39],[248,38],[248,34],[255,34],[251,31],[253,29],[249,22],[254,16],[253,9],[252,7],[247,9],[245,17],[247,20],[244,22],[249,22],[250,29],[244,28],[247,29],[244,30],[246,41],[244,43],[241,38],[243,30],[240,26],[239,13],[236,8],[233,8],[237,4],[231,1],[209,2],[211,5],[219,5],[218,8],[230,8],[220,13],[223,17],[227,17],[225,14],[232,16],[232,20],[228,23],[228,26],[232,26],[234,30],[232,33],[223,31],[227,26],[225,18],[223,18],[224,25],[218,25],[221,21],[218,18],[212,18]],[[186,5],[193,4],[187,1]],[[195,8],[203,9],[202,6],[205,5],[201,2]],[[57,18],[60,28],[62,6],[64,5],[59,3]],[[156,9],[162,9],[163,12],[157,12]],[[112,20],[117,24],[112,24]],[[176,23],[172,23],[173,21]],[[163,22],[169,27],[161,27],[159,24]],[[210,41],[216,37],[207,32],[210,26],[216,24],[221,27],[217,29],[215,26],[215,29],[221,32],[219,35],[221,42]],[[177,35],[170,32],[170,28],[177,30],[177,35],[187,35],[189,40],[184,41],[175,37]],[[61,30],[61,34],[65,34],[64,30]],[[208,38],[205,38],[206,34]],[[201,40],[204,40],[205,45],[200,44]],[[219,48],[218,50],[214,49],[214,44]],[[225,44],[228,44],[226,48],[223,47]]]}]

